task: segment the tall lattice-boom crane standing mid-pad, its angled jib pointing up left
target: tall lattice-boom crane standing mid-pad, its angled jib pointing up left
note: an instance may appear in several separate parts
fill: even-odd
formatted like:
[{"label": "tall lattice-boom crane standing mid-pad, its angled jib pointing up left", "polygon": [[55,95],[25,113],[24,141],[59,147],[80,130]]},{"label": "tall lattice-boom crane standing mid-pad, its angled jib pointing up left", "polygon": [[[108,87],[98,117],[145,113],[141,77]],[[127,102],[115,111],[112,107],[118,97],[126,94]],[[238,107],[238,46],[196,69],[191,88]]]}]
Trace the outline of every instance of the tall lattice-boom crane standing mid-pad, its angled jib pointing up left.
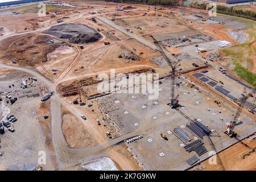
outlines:
[{"label": "tall lattice-boom crane standing mid-pad, its angled jib pointing up left", "polygon": [[167,64],[170,65],[172,69],[171,70],[171,97],[170,97],[170,103],[168,103],[168,105],[170,105],[172,109],[175,109],[176,107],[179,106],[179,100],[177,100],[179,95],[175,96],[174,92],[175,92],[176,68],[180,66],[180,60],[178,60],[174,65],[172,65],[171,60],[167,57],[160,43],[152,35],[150,36],[154,40],[155,45],[159,48],[159,50],[156,49],[156,51],[159,51],[162,54],[164,60],[166,60]]}]

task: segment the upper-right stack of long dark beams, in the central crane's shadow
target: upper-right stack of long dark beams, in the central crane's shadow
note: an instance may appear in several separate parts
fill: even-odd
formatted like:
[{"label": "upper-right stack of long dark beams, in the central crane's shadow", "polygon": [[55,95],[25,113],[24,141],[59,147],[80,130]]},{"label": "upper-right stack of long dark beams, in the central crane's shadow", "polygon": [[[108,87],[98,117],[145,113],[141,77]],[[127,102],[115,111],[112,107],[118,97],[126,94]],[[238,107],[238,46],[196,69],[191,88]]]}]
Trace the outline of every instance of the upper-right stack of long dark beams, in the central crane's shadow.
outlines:
[{"label": "upper-right stack of long dark beams, in the central crane's shadow", "polygon": [[203,139],[204,135],[208,135],[211,132],[208,127],[199,121],[191,122],[187,124],[187,127],[201,139]]}]

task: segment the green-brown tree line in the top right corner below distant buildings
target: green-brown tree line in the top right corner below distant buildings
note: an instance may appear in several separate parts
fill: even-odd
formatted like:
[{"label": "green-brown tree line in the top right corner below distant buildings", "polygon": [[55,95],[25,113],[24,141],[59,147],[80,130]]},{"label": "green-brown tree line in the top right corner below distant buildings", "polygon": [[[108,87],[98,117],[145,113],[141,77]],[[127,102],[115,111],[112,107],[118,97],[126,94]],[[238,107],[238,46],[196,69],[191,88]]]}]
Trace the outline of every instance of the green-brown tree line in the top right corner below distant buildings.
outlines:
[{"label": "green-brown tree line in the top right corner below distant buildings", "polygon": [[[203,9],[203,10],[208,9],[208,4],[207,3],[197,3],[197,2],[195,2],[195,3],[191,3],[190,6],[195,7],[197,9]],[[256,20],[256,12],[255,11],[237,10],[233,6],[228,7],[228,6],[217,5],[217,13],[222,13],[222,14],[227,14],[227,15],[232,15],[232,16],[238,16],[238,17],[241,17],[241,18]]]}]

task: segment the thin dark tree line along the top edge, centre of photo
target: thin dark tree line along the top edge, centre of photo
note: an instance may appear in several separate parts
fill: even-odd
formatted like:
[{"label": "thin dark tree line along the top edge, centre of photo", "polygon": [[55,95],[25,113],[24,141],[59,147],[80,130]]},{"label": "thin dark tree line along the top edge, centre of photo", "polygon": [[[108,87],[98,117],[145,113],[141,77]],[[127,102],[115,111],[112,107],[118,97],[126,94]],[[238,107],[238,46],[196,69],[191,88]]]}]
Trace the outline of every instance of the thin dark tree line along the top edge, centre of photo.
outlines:
[{"label": "thin dark tree line along the top edge, centre of photo", "polygon": [[120,3],[140,3],[146,5],[163,5],[163,6],[177,6],[179,0],[105,0],[107,2],[120,2]]}]

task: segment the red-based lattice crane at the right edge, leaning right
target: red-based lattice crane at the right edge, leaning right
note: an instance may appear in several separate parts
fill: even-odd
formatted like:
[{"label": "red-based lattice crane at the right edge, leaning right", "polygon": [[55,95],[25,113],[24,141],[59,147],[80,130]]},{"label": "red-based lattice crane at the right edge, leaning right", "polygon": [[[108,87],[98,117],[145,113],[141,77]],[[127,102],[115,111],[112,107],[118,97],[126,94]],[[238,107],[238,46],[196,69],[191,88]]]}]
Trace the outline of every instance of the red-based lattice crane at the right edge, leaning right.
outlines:
[{"label": "red-based lattice crane at the right edge, leaning right", "polygon": [[224,131],[225,134],[229,135],[229,137],[236,137],[237,133],[234,132],[234,127],[237,125],[238,117],[240,116],[243,106],[245,105],[245,102],[248,98],[253,97],[255,102],[255,92],[251,91],[250,93],[246,93],[246,88],[243,88],[242,97],[237,100],[237,103],[239,105],[237,109],[237,113],[234,115],[234,119],[230,121],[230,124],[228,125],[226,131]]}]

